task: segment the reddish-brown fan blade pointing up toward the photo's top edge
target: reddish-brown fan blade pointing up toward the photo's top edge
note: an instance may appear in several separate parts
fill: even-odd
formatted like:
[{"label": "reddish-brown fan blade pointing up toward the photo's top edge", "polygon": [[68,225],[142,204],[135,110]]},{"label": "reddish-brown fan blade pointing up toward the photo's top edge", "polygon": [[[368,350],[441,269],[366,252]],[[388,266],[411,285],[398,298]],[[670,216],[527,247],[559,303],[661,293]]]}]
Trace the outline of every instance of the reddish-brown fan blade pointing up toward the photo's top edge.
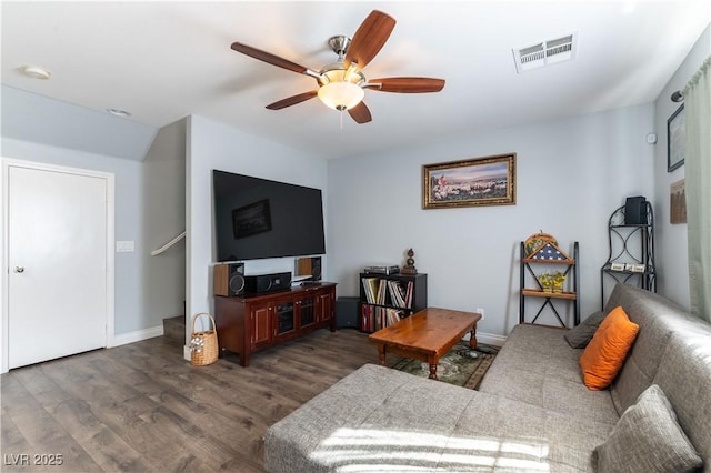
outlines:
[{"label": "reddish-brown fan blade pointing up toward the photo's top edge", "polygon": [[346,51],[344,64],[358,63],[358,69],[365,67],[382,49],[395,27],[395,19],[382,11],[373,10],[353,34]]}]

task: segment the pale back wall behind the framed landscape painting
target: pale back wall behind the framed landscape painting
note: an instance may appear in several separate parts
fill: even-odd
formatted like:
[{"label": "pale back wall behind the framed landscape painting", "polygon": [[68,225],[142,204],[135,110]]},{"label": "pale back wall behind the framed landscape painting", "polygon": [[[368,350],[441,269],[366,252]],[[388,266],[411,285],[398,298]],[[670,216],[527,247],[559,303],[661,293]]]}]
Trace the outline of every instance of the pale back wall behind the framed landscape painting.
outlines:
[{"label": "pale back wall behind the framed landscape painting", "polygon": [[[600,308],[610,214],[653,193],[651,104],[489,130],[445,142],[329,161],[330,279],[358,295],[370,263],[402,264],[413,248],[430,306],[485,309],[484,333],[518,323],[518,245],[543,230],[580,242],[581,319]],[[517,204],[422,210],[422,164],[515,152]],[[527,311],[528,312],[528,311]]]}]

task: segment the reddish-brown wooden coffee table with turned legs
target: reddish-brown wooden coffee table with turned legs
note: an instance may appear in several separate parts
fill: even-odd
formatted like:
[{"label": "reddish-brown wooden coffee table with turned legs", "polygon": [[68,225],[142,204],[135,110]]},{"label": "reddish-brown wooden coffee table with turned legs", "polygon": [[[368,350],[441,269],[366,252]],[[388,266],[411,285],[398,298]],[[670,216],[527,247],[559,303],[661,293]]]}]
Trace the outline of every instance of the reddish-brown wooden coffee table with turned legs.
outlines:
[{"label": "reddish-brown wooden coffee table with turned legs", "polygon": [[368,339],[378,344],[380,364],[385,364],[385,354],[395,353],[404,358],[425,361],[430,364],[430,379],[437,380],[437,363],[444,353],[471,333],[469,346],[477,348],[477,322],[481,314],[429,308],[385,326]]}]

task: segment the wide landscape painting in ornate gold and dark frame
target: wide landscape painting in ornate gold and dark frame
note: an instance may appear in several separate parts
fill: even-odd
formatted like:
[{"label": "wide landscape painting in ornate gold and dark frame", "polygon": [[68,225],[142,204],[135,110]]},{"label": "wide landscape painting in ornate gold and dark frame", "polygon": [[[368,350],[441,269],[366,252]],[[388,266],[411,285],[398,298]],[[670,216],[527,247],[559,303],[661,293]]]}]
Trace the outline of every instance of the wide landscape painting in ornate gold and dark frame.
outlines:
[{"label": "wide landscape painting in ornate gold and dark frame", "polygon": [[515,204],[515,153],[422,167],[422,209]]}]

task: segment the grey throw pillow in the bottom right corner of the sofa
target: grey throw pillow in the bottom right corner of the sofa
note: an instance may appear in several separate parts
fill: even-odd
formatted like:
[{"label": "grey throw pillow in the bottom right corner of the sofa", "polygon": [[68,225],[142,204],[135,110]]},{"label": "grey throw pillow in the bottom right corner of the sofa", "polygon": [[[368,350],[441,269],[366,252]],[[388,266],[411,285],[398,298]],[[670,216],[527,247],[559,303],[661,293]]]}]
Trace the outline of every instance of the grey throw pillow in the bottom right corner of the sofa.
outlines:
[{"label": "grey throw pillow in the bottom right corner of the sofa", "polygon": [[605,473],[683,473],[702,464],[657,384],[624,411],[594,454],[598,471]]}]

